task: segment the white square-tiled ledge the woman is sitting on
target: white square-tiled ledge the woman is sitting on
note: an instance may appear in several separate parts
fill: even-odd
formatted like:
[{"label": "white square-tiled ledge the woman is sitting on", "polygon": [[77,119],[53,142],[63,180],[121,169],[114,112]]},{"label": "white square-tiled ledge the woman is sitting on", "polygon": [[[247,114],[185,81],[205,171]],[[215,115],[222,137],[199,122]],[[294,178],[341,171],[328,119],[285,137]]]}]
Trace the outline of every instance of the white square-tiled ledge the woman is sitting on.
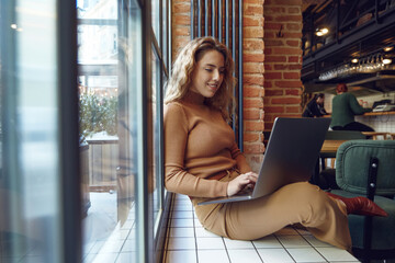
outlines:
[{"label": "white square-tiled ledge the woman is sitting on", "polygon": [[174,195],[168,230],[166,263],[359,262],[347,251],[291,227],[252,241],[222,238],[202,227],[184,195]]}]

